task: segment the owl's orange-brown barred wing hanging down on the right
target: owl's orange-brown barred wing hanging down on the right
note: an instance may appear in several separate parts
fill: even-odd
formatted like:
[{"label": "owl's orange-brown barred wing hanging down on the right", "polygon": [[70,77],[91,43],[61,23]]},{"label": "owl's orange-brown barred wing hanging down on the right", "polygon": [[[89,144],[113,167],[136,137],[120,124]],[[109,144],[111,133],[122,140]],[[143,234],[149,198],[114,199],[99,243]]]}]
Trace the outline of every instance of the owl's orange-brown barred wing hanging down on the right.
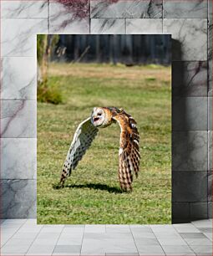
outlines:
[{"label": "owl's orange-brown barred wing hanging down on the right", "polygon": [[132,190],[133,174],[139,172],[139,132],[136,121],[126,113],[115,115],[120,126],[119,185],[124,191]]}]

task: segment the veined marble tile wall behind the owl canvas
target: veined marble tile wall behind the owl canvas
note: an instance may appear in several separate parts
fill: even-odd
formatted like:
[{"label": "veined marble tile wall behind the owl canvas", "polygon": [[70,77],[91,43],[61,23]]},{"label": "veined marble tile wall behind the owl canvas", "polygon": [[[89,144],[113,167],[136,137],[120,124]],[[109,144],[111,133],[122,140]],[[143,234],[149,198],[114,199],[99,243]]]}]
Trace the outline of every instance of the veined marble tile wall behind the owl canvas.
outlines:
[{"label": "veined marble tile wall behind the owl canvas", "polygon": [[211,0],[69,2],[1,1],[1,217],[36,218],[36,33],[170,33],[172,220],[210,218]]}]

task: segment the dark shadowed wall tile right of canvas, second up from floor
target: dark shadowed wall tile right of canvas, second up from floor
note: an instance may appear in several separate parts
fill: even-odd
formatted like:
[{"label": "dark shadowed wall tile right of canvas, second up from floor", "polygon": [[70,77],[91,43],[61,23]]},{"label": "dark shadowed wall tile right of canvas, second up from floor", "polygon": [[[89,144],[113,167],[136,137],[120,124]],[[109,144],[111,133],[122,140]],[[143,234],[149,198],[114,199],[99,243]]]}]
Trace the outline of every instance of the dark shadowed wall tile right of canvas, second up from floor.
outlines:
[{"label": "dark shadowed wall tile right of canvas, second up from floor", "polygon": [[207,202],[207,172],[173,172],[172,202]]}]

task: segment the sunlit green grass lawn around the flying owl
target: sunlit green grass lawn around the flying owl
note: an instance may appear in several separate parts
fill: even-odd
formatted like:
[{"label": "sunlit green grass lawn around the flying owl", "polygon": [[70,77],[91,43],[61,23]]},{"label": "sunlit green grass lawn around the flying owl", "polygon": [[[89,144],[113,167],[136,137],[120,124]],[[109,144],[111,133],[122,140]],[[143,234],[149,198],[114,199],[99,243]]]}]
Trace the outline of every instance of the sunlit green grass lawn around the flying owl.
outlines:
[{"label": "sunlit green grass lawn around the flying owl", "polygon": [[[170,223],[170,67],[51,64],[48,83],[63,104],[38,103],[38,223]],[[119,125],[101,129],[66,186],[54,188],[74,131],[94,106],[122,107],[138,123],[133,192],[119,190]]]}]

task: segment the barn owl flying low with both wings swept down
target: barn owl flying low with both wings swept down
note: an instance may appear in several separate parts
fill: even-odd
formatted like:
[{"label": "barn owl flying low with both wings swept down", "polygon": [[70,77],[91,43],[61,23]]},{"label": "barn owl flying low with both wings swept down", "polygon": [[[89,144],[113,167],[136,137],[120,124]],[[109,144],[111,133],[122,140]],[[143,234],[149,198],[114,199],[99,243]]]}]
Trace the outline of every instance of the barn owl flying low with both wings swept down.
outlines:
[{"label": "barn owl flying low with both wings swept down", "polygon": [[116,122],[120,126],[119,185],[123,191],[132,190],[133,174],[138,177],[139,172],[139,132],[133,117],[115,107],[95,107],[92,115],[79,124],[63,164],[60,179],[62,186],[91,146],[99,128]]}]

